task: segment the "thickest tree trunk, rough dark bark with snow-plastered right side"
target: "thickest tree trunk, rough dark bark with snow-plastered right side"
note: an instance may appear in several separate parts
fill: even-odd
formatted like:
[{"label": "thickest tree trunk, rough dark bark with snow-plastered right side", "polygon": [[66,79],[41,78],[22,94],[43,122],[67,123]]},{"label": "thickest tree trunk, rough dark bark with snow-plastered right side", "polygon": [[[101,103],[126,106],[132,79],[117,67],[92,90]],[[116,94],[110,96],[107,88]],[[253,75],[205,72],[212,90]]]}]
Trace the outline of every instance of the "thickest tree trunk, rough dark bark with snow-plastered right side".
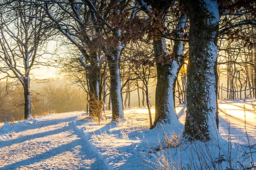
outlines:
[{"label": "thickest tree trunk, rough dark bark with snow-plastered right side", "polygon": [[209,141],[218,133],[217,110],[217,0],[183,0],[189,28],[187,113],[183,136]]}]

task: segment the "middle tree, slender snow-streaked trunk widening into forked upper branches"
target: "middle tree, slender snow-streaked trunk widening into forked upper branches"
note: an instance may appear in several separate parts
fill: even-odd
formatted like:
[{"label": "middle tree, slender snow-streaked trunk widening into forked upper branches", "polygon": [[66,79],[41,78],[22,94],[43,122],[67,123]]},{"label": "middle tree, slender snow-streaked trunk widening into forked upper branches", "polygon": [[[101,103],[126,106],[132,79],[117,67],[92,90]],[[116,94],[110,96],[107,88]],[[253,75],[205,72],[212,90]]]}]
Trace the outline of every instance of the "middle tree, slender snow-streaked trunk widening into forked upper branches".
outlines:
[{"label": "middle tree, slender snow-streaked trunk widening into forked upper branches", "polygon": [[122,51],[126,43],[121,42],[124,31],[120,29],[119,19],[123,17],[122,14],[129,14],[129,18],[134,17],[130,7],[130,1],[112,0],[112,1],[93,1],[85,0],[91,12],[91,18],[94,26],[97,26],[97,32],[100,34],[105,53],[108,61],[108,68],[110,72],[110,94],[112,104],[112,119],[123,118],[122,94],[121,94],[121,78],[120,78],[120,59]]}]

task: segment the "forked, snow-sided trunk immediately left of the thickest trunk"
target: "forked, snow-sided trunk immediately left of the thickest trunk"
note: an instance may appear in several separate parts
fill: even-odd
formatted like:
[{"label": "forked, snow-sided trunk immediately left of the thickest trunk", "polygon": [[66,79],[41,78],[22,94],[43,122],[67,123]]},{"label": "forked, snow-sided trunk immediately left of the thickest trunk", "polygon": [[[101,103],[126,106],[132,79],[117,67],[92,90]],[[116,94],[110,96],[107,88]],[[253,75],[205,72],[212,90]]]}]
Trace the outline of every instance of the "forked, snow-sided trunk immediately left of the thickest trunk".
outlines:
[{"label": "forked, snow-sided trunk immediately left of the thickest trunk", "polygon": [[[177,30],[183,29],[186,25],[186,14],[180,17],[177,25]],[[181,33],[176,35],[179,38]],[[165,39],[154,40],[154,55],[155,58],[163,57],[163,52],[166,51]],[[157,86],[155,95],[155,120],[154,126],[158,123],[171,124],[172,126],[180,125],[175,111],[175,83],[177,75],[183,65],[183,42],[176,41],[174,44],[174,58],[170,63],[157,65]]]}]

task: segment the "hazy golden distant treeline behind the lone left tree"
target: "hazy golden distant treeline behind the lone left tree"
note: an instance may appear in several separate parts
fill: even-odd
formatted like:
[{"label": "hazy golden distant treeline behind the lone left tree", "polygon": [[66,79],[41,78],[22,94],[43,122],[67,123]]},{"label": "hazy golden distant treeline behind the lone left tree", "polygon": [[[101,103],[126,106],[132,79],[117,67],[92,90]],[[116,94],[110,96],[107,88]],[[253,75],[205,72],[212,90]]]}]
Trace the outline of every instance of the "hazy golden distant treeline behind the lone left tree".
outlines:
[{"label": "hazy golden distant treeline behind the lone left tree", "polygon": [[[7,87],[7,88],[6,88]],[[52,84],[32,90],[32,116],[86,110],[86,94],[73,86]],[[0,122],[24,119],[24,94],[21,86],[0,82]]]}]

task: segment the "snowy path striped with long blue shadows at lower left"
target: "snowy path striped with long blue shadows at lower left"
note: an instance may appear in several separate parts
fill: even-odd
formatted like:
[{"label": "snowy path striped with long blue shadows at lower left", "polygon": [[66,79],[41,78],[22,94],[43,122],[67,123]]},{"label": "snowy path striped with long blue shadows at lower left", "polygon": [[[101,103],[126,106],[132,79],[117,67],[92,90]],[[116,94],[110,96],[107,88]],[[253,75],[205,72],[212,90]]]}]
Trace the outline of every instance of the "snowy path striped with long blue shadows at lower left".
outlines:
[{"label": "snowy path striped with long blue shadows at lower left", "polygon": [[81,112],[53,114],[0,133],[0,170],[107,170],[72,121]]}]

